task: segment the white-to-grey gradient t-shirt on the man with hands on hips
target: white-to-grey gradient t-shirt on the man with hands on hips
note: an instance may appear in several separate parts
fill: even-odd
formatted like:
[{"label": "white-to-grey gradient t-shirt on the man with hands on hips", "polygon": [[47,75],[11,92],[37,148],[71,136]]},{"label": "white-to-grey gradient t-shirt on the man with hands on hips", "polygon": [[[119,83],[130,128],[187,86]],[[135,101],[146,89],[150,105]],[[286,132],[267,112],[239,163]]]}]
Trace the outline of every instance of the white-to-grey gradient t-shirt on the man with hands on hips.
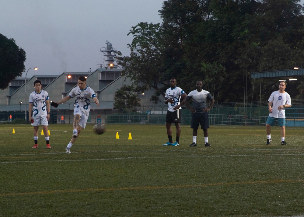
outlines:
[{"label": "white-to-grey gradient t-shirt on the man with hands on hips", "polygon": [[202,90],[198,92],[197,90],[191,91],[188,96],[187,100],[192,98],[193,108],[196,112],[202,113],[204,112],[204,108],[207,107],[206,99],[212,100],[213,96],[208,91]]}]

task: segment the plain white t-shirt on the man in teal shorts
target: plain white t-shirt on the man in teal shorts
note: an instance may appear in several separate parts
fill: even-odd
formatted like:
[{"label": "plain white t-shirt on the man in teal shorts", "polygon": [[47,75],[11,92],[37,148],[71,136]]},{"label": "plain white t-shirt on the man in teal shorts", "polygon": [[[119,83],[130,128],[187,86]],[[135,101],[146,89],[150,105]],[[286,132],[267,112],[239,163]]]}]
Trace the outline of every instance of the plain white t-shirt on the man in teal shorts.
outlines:
[{"label": "plain white t-shirt on the man in teal shorts", "polygon": [[272,113],[269,113],[269,117],[285,118],[285,108],[278,109],[280,105],[291,105],[291,99],[287,92],[280,93],[274,91],[270,95],[268,102],[272,102]]}]

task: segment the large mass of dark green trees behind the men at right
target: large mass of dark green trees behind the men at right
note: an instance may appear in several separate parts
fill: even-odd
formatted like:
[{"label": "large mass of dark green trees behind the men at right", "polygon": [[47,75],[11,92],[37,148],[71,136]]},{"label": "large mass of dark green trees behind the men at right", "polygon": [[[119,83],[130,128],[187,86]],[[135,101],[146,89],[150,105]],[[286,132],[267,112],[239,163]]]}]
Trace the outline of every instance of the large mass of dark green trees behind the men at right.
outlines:
[{"label": "large mass of dark green trees behind the men at right", "polygon": [[[259,100],[252,72],[303,67],[304,10],[299,2],[167,0],[159,11],[162,25],[139,23],[130,30],[131,57],[120,57],[124,73],[158,95],[174,76],[186,92],[195,88],[194,79],[203,79],[218,102]],[[264,100],[278,89],[275,80],[259,84]]]}]

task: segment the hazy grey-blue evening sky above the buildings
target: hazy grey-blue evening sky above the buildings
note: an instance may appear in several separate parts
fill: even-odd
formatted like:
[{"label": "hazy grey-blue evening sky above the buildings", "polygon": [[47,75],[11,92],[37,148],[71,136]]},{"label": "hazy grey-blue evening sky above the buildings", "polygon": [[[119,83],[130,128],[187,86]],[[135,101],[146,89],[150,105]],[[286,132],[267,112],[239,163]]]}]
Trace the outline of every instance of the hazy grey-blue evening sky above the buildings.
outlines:
[{"label": "hazy grey-blue evening sky above the buildings", "polygon": [[[94,71],[108,40],[129,56],[127,36],[140,22],[161,23],[164,0],[0,0],[0,33],[26,52],[27,78],[34,74]],[[23,73],[25,77],[26,71]]]}]

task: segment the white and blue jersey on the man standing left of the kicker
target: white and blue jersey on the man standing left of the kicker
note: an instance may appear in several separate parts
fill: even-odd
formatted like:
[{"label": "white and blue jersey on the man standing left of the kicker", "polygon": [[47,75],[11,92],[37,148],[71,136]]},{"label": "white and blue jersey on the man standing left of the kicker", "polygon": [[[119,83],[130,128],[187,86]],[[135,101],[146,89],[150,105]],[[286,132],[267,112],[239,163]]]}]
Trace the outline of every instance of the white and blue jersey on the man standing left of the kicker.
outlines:
[{"label": "white and blue jersey on the man standing left of the kicker", "polygon": [[49,100],[47,91],[41,90],[40,93],[34,91],[30,94],[29,103],[33,103],[33,117],[47,116],[47,106],[45,102],[47,100]]}]

